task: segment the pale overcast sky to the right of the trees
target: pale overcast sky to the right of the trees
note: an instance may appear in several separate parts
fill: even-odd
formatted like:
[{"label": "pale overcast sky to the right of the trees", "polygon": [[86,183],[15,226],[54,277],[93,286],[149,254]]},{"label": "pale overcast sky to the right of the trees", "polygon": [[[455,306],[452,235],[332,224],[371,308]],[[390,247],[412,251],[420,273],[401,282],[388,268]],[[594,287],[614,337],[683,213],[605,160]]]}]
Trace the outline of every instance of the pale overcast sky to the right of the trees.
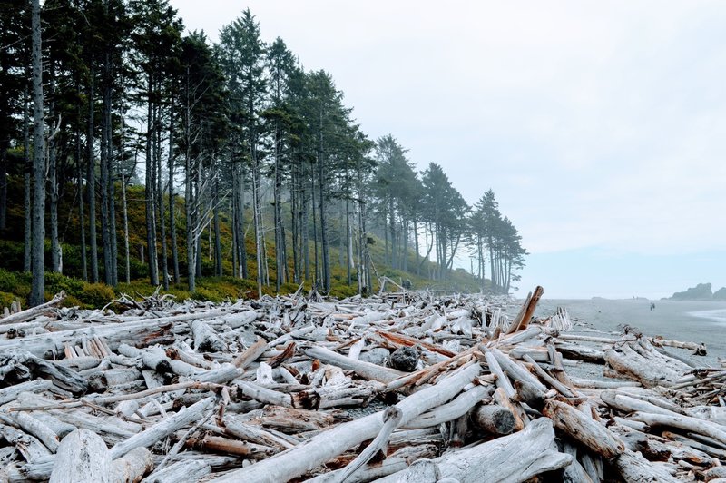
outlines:
[{"label": "pale overcast sky to the right of the trees", "polygon": [[249,7],[369,137],[469,203],[492,188],[531,252],[521,291],[726,285],[726,3],[171,3],[215,41]]}]

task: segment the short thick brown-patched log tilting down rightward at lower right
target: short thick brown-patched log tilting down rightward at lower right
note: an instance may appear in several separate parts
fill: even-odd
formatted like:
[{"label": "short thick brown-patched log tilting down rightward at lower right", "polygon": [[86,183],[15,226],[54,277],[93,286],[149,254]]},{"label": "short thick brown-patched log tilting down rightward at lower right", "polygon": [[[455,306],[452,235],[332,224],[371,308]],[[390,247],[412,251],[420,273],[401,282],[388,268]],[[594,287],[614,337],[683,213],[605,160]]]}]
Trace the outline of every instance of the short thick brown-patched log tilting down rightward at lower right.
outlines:
[{"label": "short thick brown-patched log tilting down rightward at lower right", "polygon": [[569,404],[549,400],[544,405],[544,416],[554,422],[554,427],[583,443],[588,449],[603,456],[614,458],[623,453],[623,442],[602,424],[588,419]]}]

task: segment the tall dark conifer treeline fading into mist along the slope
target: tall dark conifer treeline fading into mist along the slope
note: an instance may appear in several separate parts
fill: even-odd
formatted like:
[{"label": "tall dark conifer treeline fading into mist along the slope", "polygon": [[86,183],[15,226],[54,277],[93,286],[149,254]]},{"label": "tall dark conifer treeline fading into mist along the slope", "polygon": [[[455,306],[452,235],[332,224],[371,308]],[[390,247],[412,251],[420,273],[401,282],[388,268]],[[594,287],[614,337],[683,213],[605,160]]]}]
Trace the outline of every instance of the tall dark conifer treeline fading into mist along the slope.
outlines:
[{"label": "tall dark conifer treeline fading into mist along the slope", "polygon": [[[183,277],[193,291],[204,238],[205,275],[250,278],[259,293],[302,281],[327,292],[337,263],[364,292],[371,235],[394,269],[446,279],[468,250],[483,287],[516,280],[525,250],[494,193],[470,207],[441,166],[417,173],[396,138],[368,139],[330,74],[306,71],[280,38],[263,42],[249,10],[211,44],[184,34],[164,0],[0,8],[0,229],[22,203],[32,303],[44,296],[44,242],[48,268],[63,271],[64,201],[82,227],[83,279],[109,285],[128,282],[135,259],[152,284]],[[14,177],[24,196],[8,199]],[[134,184],[145,226],[129,226]],[[130,246],[142,231],[145,245]]]}]

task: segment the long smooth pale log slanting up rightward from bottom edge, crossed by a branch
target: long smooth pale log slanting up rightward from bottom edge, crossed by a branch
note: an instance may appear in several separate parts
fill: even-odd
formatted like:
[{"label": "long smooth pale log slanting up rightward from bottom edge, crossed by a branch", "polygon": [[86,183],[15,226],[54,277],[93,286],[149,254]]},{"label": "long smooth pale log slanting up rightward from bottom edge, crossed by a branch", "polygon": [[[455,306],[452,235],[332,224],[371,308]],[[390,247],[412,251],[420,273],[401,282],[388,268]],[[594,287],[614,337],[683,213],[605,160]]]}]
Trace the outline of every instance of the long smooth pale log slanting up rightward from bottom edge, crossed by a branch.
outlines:
[{"label": "long smooth pale log slanting up rightward from bottom edge, crossed by a branch", "polygon": [[[347,358],[346,358],[347,359]],[[397,404],[402,411],[401,425],[416,418],[428,409],[443,404],[466,386],[479,373],[477,365],[458,370],[436,385],[421,389]],[[274,483],[296,478],[325,463],[343,451],[360,444],[366,439],[374,438],[383,426],[383,411],[364,418],[338,425],[308,439],[305,444],[285,453],[279,453],[264,459],[249,468],[234,471],[215,481],[266,481]]]}]

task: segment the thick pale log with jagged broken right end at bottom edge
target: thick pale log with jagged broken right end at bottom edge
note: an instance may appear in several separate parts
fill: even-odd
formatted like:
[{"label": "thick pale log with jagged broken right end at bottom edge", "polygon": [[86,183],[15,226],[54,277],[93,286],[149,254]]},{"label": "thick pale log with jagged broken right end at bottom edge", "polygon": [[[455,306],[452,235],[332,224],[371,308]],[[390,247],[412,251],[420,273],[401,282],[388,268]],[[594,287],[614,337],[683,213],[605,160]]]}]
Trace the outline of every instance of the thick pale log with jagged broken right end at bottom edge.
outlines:
[{"label": "thick pale log with jagged broken right end at bottom edge", "polygon": [[[540,418],[523,431],[471,448],[449,451],[433,462],[440,478],[454,478],[460,483],[515,482],[564,468],[572,462],[572,457],[557,451],[552,421]],[[378,481],[406,481],[399,478],[405,478],[407,471]]]}]

